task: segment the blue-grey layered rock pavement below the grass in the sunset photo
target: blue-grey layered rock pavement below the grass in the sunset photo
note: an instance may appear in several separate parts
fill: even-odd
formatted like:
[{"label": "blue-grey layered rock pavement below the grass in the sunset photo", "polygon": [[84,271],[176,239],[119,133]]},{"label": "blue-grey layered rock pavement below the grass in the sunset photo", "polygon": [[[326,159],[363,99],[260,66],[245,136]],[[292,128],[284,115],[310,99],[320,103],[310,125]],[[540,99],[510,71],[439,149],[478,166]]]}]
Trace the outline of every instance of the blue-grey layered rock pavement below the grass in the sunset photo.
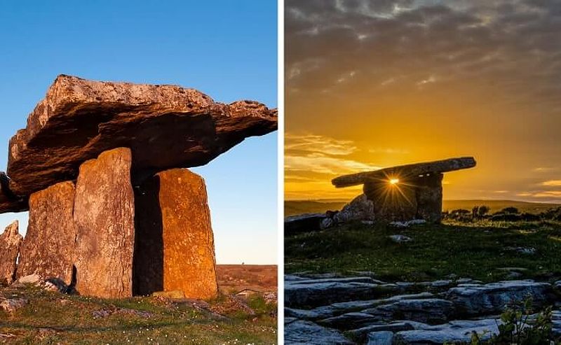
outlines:
[{"label": "blue-grey layered rock pavement below the grass in the sunset photo", "polygon": [[285,344],[457,344],[474,332],[485,341],[499,333],[504,307],[528,297],[538,309],[557,307],[553,335],[561,337],[561,281],[389,283],[367,272],[285,279]]}]

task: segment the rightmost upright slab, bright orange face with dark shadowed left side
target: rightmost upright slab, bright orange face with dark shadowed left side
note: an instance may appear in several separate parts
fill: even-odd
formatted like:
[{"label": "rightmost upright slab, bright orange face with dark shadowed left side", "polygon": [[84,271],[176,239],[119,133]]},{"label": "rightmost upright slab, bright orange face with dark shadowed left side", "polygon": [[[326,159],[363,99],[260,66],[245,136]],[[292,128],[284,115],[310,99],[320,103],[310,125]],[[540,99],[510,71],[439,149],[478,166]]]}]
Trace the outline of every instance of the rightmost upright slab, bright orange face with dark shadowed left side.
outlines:
[{"label": "rightmost upright slab, bright orange face with dark shadowed left side", "polygon": [[217,296],[215,246],[205,181],[188,169],[156,174],[136,190],[135,293],[182,290]]}]

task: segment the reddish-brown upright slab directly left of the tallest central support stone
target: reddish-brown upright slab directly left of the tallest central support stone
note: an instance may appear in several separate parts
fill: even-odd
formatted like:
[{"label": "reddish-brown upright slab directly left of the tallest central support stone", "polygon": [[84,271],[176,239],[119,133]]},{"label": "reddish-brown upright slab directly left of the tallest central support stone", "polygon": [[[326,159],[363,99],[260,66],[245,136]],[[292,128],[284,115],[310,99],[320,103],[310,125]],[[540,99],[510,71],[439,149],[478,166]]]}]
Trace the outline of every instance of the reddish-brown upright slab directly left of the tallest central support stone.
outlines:
[{"label": "reddish-brown upright slab directly left of the tallest central support stone", "polygon": [[74,183],[61,182],[29,197],[29,225],[20,250],[18,279],[37,274],[72,283],[76,228]]}]

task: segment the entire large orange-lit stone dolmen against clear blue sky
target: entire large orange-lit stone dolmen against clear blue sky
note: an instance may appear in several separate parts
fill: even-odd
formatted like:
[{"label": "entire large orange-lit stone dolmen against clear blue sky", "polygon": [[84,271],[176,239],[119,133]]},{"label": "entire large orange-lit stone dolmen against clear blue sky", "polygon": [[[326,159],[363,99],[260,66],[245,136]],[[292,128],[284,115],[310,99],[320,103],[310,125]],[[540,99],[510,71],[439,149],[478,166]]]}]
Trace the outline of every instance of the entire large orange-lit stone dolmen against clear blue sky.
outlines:
[{"label": "entire large orange-lit stone dolmen against clear blue sky", "polygon": [[276,128],[276,109],[256,101],[58,76],[0,173],[0,213],[29,210],[23,240],[17,224],[0,235],[0,279],[55,278],[104,298],[216,297],[205,181],[187,168]]}]

